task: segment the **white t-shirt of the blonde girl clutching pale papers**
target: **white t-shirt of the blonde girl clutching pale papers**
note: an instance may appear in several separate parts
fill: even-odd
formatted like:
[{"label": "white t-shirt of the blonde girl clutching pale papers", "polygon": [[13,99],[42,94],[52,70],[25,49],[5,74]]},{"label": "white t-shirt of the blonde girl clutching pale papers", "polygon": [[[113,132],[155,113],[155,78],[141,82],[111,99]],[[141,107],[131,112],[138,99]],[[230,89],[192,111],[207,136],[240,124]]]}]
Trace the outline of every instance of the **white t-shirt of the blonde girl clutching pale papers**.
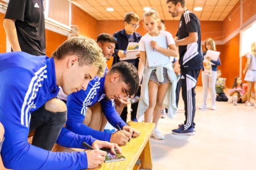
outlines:
[{"label": "white t-shirt of the blonde girl clutching pale papers", "polygon": [[[160,33],[158,34],[158,36],[166,36],[166,42],[167,42],[167,45],[171,45],[171,44],[175,44],[175,41],[173,39],[173,36],[171,35],[171,33],[169,33],[168,31],[160,31]],[[139,51],[146,51],[146,47],[145,47],[145,42],[144,42],[144,39],[145,38],[150,38],[152,37],[150,34],[145,34],[145,36],[143,36],[141,39],[140,39],[140,42],[139,42]],[[170,59],[170,62],[173,62],[174,60],[174,57],[169,57]],[[148,64],[147,64],[148,65]]]}]

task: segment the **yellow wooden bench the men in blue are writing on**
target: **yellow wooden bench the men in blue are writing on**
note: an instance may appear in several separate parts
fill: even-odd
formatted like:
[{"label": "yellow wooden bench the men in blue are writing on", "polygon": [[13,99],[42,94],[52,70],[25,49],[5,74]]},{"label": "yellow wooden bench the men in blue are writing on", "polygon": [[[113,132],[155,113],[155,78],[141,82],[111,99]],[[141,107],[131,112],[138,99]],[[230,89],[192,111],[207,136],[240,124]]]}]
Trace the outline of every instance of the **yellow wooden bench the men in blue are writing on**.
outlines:
[{"label": "yellow wooden bench the men in blue are writing on", "polygon": [[[150,148],[150,136],[155,128],[155,123],[138,123],[129,122],[129,126],[140,131],[140,136],[131,139],[126,145],[121,146],[122,155],[126,157],[125,161],[116,161],[111,163],[103,163],[101,166],[93,170],[103,169],[137,169],[135,168],[136,161],[140,158],[142,169],[152,169],[152,156]],[[92,170],[92,169],[91,169]]]}]

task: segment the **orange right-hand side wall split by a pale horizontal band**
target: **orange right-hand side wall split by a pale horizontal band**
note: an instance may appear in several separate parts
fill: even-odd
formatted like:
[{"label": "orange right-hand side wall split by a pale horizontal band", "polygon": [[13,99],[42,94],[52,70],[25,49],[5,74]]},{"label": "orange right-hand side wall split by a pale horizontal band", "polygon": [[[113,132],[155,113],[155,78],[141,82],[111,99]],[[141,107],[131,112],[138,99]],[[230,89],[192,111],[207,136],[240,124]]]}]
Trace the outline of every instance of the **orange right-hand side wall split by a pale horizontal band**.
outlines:
[{"label": "orange right-hand side wall split by a pale horizontal band", "polygon": [[[247,22],[252,16],[256,14],[256,3],[252,0],[243,1],[243,12],[242,12],[242,23]],[[229,15],[225,18],[223,22],[223,39],[237,30],[241,23],[241,12],[240,12],[240,1],[237,2],[233,10],[231,10],[231,20],[229,21]],[[233,39],[226,42],[223,45],[223,54],[221,57],[222,62],[222,77],[227,78],[227,87],[231,88],[234,83],[234,78],[239,76],[239,66],[240,66],[240,57],[239,57],[239,43],[240,43],[240,34],[237,34]],[[245,57],[242,57],[242,70],[246,63]],[[242,80],[244,81],[244,75],[242,74]],[[245,81],[244,81],[245,83]]]}]

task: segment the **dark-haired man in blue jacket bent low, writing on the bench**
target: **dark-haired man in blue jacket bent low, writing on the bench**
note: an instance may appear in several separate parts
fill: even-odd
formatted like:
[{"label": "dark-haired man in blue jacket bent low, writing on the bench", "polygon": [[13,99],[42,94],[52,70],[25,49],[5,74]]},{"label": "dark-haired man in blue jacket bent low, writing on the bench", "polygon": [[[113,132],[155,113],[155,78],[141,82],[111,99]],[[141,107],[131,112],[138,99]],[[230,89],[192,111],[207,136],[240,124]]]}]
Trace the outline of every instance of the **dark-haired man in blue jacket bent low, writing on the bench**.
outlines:
[{"label": "dark-haired man in blue jacket bent low, writing on the bench", "polygon": [[[102,78],[94,78],[90,81],[86,91],[79,91],[67,96],[66,128],[75,134],[90,135],[95,139],[119,145],[126,144],[129,138],[139,136],[140,132],[122,121],[116,111],[113,99],[129,97],[137,92],[138,87],[139,76],[134,65],[127,62],[116,63],[109,71],[105,72]],[[110,124],[116,129],[121,127],[123,131],[111,134],[87,126],[90,123],[100,124],[102,113]],[[60,136],[58,140],[64,140],[64,137]]]}]

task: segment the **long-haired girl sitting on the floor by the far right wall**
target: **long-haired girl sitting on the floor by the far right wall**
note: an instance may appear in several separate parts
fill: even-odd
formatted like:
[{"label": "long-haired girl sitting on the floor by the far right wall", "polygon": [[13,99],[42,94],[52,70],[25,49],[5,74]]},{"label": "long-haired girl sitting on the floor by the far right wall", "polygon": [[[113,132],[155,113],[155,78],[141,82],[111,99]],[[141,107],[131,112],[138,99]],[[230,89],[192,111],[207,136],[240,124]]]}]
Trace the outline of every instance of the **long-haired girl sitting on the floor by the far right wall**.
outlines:
[{"label": "long-haired girl sitting on the floor by the far right wall", "polygon": [[[232,89],[229,91],[229,95],[232,96],[233,105],[237,103],[245,103],[247,101],[247,84],[242,84],[242,78],[237,76],[234,79]],[[252,99],[255,99],[255,94],[251,92]]]}]

